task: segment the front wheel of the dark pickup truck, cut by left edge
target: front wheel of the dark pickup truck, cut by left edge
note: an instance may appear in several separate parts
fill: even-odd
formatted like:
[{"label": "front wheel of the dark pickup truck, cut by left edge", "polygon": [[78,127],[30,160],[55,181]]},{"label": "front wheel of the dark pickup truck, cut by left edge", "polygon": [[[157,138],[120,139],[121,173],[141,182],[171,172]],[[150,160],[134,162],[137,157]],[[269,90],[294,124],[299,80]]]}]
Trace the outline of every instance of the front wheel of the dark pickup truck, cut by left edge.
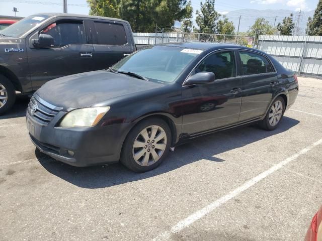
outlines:
[{"label": "front wheel of the dark pickup truck, cut by left edge", "polygon": [[11,81],[0,75],[0,115],[9,110],[16,101],[16,91]]}]

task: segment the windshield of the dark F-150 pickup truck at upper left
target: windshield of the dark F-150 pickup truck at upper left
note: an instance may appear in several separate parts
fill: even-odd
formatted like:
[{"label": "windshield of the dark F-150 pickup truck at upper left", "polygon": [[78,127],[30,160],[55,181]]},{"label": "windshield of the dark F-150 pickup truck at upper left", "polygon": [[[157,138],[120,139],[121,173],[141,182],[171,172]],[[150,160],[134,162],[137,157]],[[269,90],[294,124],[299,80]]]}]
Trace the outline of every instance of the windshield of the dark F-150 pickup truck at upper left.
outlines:
[{"label": "windshield of the dark F-150 pickup truck at upper left", "polygon": [[8,28],[0,31],[1,37],[12,37],[19,38],[24,33],[28,32],[30,29],[34,28],[37,25],[40,25],[49,16],[47,15],[32,15],[27,18],[24,18],[13,25],[10,25]]}]

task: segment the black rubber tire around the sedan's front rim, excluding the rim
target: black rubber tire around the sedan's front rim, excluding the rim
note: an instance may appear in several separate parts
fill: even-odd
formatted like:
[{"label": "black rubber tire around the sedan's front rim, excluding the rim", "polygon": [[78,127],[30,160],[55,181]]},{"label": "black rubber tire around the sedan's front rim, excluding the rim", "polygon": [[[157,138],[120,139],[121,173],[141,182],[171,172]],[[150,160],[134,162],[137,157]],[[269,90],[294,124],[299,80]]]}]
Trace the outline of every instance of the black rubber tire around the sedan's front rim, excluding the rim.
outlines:
[{"label": "black rubber tire around the sedan's front rim, excluding the rim", "polygon": [[[133,145],[134,142],[136,141],[137,137],[143,131],[144,129],[150,127],[150,126],[158,126],[162,128],[165,133],[166,133],[166,138],[167,138],[167,143],[166,143],[166,148],[163,151],[162,156],[154,163],[148,165],[148,166],[142,166],[139,165],[133,157]],[[148,133],[149,136],[151,136],[151,133]],[[150,171],[154,168],[156,168],[158,165],[160,165],[164,159],[167,157],[169,154],[170,150],[170,145],[172,141],[172,135],[171,135],[171,130],[168,126],[168,124],[163,121],[163,119],[156,118],[156,117],[151,117],[144,119],[143,121],[139,122],[128,134],[126,137],[123,147],[122,147],[122,152],[121,152],[121,158],[120,161],[121,163],[126,166],[128,169],[134,171],[134,172],[147,172]],[[143,149],[143,147],[142,147]],[[150,154],[149,154],[150,155]],[[145,156],[142,156],[144,158]],[[149,156],[151,157],[151,156]]]}]

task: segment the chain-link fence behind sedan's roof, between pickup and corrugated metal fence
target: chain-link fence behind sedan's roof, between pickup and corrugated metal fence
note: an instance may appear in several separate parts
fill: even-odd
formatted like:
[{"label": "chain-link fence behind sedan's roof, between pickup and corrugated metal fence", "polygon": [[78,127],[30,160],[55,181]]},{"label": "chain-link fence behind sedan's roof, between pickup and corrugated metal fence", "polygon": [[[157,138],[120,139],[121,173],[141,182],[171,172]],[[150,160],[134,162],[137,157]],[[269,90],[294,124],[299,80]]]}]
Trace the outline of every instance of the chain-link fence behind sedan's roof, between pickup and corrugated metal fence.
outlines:
[{"label": "chain-link fence behind sedan's roof, between pickup and corrugated metal fence", "polygon": [[202,34],[182,32],[133,33],[135,44],[151,45],[178,42],[229,43],[254,47],[255,37],[244,35]]}]

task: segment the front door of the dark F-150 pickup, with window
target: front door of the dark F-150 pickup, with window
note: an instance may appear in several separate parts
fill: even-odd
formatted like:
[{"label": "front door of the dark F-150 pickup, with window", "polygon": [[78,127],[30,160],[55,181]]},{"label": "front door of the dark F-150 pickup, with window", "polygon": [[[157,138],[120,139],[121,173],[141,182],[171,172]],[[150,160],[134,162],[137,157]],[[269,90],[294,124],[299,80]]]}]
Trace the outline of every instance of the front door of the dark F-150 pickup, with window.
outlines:
[{"label": "front door of the dark F-150 pickup, with window", "polygon": [[51,35],[54,46],[28,49],[33,89],[54,78],[93,70],[93,45],[82,20],[59,19],[39,33]]}]

